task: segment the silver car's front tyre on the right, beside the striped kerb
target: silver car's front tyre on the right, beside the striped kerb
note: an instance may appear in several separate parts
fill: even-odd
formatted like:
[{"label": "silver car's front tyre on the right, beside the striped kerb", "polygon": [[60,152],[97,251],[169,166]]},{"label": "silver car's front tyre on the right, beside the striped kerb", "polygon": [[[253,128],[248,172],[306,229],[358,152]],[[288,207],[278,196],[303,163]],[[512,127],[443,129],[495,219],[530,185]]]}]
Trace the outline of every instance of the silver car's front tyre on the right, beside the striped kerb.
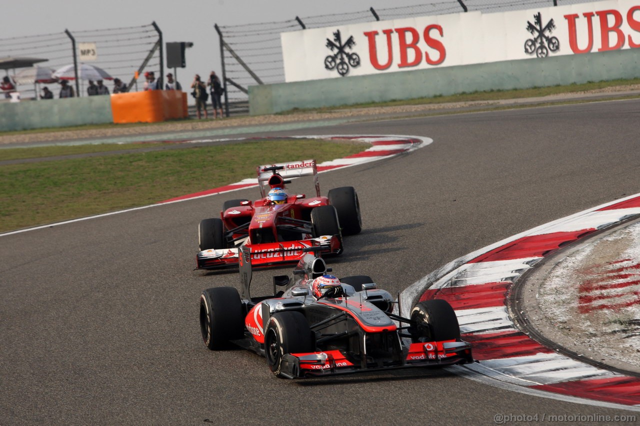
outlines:
[{"label": "silver car's front tyre on the right, beside the striped kerb", "polygon": [[451,305],[442,299],[417,303],[411,310],[412,342],[434,342],[460,338],[458,317]]}]

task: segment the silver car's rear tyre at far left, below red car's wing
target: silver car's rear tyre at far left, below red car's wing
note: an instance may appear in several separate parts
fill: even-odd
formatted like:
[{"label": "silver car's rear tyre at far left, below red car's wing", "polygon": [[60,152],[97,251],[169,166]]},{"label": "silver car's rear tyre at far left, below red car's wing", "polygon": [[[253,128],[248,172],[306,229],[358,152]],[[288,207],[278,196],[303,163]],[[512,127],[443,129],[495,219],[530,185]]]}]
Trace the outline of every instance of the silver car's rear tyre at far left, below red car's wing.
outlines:
[{"label": "silver car's rear tyre at far left, below red car's wing", "polygon": [[243,306],[234,287],[207,288],[200,295],[200,331],[206,347],[223,349],[244,336]]}]

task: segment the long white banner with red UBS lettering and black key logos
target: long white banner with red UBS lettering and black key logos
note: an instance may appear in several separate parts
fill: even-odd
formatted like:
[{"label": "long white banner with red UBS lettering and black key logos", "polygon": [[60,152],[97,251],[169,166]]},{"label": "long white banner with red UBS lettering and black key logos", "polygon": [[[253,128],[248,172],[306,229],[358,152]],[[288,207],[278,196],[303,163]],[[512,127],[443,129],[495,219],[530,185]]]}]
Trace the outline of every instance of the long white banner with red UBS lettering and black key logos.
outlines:
[{"label": "long white banner with red UBS lettering and black key logos", "polygon": [[285,81],[640,47],[640,0],[454,13],[280,35]]}]

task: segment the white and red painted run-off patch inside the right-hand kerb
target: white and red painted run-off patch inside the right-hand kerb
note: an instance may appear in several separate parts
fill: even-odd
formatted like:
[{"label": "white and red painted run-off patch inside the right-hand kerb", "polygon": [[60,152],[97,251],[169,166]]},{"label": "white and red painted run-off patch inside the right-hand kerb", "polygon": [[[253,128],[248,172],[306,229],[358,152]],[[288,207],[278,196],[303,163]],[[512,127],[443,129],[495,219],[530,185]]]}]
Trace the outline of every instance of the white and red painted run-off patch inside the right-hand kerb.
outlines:
[{"label": "white and red painted run-off patch inside the right-hand kerb", "polygon": [[640,372],[640,221],[566,256],[536,297],[554,341]]}]

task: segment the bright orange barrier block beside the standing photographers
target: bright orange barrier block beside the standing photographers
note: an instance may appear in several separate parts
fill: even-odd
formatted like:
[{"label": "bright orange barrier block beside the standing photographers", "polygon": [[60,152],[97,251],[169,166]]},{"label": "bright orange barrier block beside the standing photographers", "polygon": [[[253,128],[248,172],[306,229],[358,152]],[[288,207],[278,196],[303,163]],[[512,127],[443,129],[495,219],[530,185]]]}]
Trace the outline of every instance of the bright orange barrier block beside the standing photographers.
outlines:
[{"label": "bright orange barrier block beside the standing photographers", "polygon": [[187,94],[180,90],[147,90],[111,95],[114,123],[154,123],[188,116]]}]

